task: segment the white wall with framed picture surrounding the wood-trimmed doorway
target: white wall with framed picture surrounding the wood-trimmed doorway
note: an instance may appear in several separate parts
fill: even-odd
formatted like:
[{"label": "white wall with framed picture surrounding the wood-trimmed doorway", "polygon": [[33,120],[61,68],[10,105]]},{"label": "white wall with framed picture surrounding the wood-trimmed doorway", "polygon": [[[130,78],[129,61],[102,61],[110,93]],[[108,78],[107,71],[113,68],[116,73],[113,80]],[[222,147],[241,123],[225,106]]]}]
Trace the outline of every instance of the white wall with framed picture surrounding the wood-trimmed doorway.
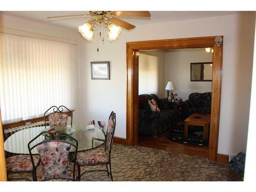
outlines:
[{"label": "white wall with framed picture surrounding the wood-trimmed doorway", "polygon": [[[222,100],[218,153],[245,152],[254,32],[254,13],[190,19],[122,30],[115,42],[91,42],[78,37],[81,123],[107,120],[117,114],[115,136],[126,137],[126,42],[224,35]],[[105,39],[107,39],[105,37]],[[90,62],[110,61],[111,80],[91,80]]]}]

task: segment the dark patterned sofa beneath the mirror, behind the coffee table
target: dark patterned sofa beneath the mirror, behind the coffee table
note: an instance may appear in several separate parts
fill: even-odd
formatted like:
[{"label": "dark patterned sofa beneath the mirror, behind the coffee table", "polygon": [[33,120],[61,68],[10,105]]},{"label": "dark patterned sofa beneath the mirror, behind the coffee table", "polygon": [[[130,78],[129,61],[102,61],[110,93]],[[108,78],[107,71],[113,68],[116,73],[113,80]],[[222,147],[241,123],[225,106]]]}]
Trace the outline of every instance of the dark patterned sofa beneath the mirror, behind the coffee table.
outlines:
[{"label": "dark patterned sofa beneath the mirror, behind the coffee table", "polygon": [[193,113],[210,114],[211,110],[211,92],[191,93],[188,100],[181,105],[182,119],[185,120]]}]

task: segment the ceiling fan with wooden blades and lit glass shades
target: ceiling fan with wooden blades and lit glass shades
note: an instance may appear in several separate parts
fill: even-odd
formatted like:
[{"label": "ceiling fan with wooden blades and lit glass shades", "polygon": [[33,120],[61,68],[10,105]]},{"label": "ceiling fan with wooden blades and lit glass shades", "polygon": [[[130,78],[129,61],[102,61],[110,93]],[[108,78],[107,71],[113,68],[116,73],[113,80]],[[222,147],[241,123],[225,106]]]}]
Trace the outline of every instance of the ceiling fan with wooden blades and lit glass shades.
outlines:
[{"label": "ceiling fan with wooden blades and lit glass shades", "polygon": [[[61,15],[51,16],[48,19],[65,18],[65,17],[91,17],[87,23],[78,27],[78,31],[87,40],[93,40],[93,33],[98,28],[108,28],[109,40],[115,40],[118,38],[121,28],[131,30],[135,28],[134,25],[125,22],[117,17],[150,17],[151,14],[148,11],[89,11],[89,14],[77,14],[77,15]],[[101,36],[101,30],[99,32]],[[104,41],[104,37],[102,37]]]}]

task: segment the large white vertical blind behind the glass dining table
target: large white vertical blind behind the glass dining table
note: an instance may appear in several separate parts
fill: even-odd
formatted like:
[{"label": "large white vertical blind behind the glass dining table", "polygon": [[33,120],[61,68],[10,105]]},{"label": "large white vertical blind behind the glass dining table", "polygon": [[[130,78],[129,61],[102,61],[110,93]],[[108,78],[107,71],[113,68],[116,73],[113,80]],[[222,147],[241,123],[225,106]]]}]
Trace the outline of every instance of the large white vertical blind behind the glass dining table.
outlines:
[{"label": "large white vertical blind behind the glass dining table", "polygon": [[74,108],[75,46],[0,33],[3,123],[41,116],[52,105]]}]

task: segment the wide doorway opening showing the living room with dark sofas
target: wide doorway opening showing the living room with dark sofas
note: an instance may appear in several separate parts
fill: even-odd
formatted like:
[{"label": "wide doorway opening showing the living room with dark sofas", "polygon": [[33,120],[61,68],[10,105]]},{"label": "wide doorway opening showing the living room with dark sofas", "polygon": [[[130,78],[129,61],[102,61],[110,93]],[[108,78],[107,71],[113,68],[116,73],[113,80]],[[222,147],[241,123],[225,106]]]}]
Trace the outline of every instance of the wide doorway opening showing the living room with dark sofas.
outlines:
[{"label": "wide doorway opening showing the living room with dark sofas", "polygon": [[208,157],[209,123],[198,123],[210,121],[212,55],[205,48],[139,51],[138,145]]}]

